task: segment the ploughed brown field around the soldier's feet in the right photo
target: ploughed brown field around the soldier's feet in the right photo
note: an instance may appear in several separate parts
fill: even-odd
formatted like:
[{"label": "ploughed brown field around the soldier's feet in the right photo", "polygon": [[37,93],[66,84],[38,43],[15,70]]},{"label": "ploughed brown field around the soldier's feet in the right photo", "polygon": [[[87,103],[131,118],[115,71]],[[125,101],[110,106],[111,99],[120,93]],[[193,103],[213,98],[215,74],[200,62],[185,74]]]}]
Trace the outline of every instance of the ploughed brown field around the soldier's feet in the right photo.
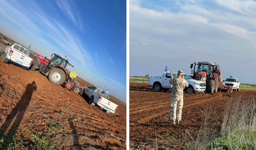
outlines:
[{"label": "ploughed brown field around the soldier's feet in the right photo", "polygon": [[183,149],[186,135],[196,136],[204,122],[206,110],[210,115],[208,119],[215,122],[214,132],[218,132],[226,100],[236,96],[246,99],[250,95],[256,95],[256,91],[204,95],[184,93],[182,121],[178,125],[169,125],[171,93],[154,92],[148,84],[130,83],[130,147],[141,150]]}]

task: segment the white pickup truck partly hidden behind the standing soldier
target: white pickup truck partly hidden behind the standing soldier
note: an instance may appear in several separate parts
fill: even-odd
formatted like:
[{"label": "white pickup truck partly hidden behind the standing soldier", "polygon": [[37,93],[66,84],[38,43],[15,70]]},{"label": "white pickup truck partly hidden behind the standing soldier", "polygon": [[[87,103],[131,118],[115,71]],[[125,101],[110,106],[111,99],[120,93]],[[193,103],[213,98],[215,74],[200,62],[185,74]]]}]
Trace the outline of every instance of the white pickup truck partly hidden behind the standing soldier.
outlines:
[{"label": "white pickup truck partly hidden behind the standing soldier", "polygon": [[[153,86],[153,89],[156,92],[160,92],[162,88],[164,91],[169,91],[172,89],[172,84],[169,83],[169,80],[172,78],[176,78],[177,73],[173,72],[165,72],[162,77],[160,76],[150,76],[148,77],[148,85]],[[194,93],[194,92],[204,92],[205,91],[205,83],[199,80],[194,80],[187,74],[183,74],[184,79],[188,82],[188,87],[185,88],[187,93]]]}]

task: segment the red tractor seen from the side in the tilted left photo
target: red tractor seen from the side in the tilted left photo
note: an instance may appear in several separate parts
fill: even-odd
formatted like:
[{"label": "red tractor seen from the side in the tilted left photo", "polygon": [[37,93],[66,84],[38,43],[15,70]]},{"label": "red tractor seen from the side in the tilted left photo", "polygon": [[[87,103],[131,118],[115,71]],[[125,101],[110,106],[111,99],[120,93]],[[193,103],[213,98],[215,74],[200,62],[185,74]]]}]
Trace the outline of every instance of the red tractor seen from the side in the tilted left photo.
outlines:
[{"label": "red tractor seen from the side in the tilted left photo", "polygon": [[[54,55],[52,57],[52,55]],[[48,59],[46,57],[35,55],[34,57],[34,64],[31,70],[39,70],[42,74],[48,76],[50,82],[55,85],[61,85],[65,82],[68,76],[68,72],[66,66],[70,64],[68,59],[58,54],[52,54],[52,59]],[[72,66],[74,67],[74,66]]]}]

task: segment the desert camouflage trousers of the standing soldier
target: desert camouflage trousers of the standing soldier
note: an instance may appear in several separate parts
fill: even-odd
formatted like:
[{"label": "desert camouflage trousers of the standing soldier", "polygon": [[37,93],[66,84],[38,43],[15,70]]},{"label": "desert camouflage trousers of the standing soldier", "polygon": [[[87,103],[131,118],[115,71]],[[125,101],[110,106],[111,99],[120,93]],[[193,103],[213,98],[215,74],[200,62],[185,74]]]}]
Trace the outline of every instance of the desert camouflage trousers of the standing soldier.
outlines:
[{"label": "desert camouflage trousers of the standing soldier", "polygon": [[183,97],[172,97],[170,106],[171,121],[180,121],[183,107]]}]

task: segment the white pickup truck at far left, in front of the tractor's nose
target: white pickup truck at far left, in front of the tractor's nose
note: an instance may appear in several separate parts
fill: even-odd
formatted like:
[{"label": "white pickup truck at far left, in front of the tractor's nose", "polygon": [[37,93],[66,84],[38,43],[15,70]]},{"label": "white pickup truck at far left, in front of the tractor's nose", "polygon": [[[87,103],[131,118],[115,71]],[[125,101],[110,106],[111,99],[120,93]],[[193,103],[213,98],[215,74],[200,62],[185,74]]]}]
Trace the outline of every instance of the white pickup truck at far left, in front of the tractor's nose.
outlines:
[{"label": "white pickup truck at far left, in front of the tractor's nose", "polygon": [[28,56],[29,51],[19,44],[12,44],[6,47],[3,62],[12,62],[22,68],[29,70],[32,66],[33,59]]}]

